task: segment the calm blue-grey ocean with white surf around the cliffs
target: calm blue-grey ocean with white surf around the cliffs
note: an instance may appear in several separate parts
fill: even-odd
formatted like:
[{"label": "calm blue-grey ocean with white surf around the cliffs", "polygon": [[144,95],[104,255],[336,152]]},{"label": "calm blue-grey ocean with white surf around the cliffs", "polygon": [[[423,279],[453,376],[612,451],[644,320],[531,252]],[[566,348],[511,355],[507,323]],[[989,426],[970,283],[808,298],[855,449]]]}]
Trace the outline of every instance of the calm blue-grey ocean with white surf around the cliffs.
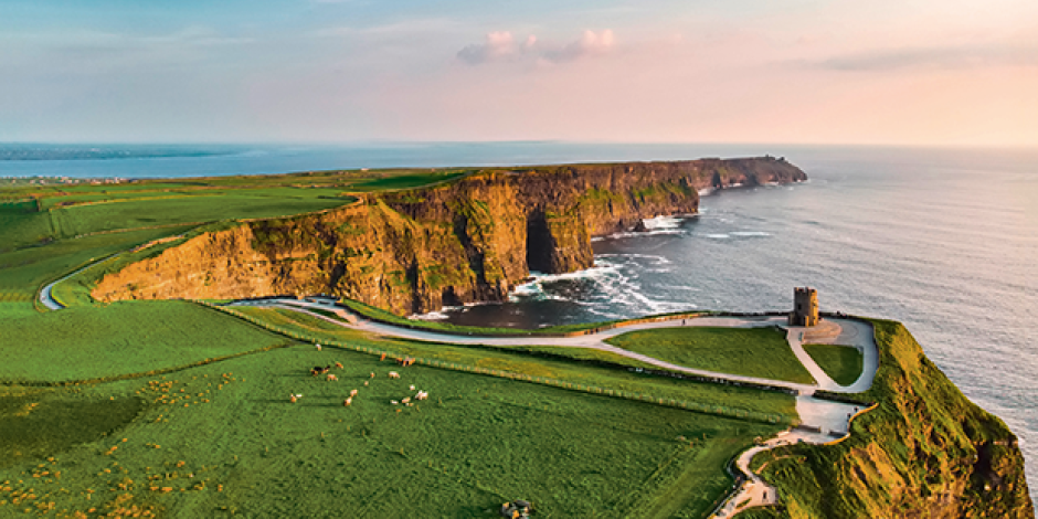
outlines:
[{"label": "calm blue-grey ocean with white surf around the cliffs", "polygon": [[[682,309],[823,310],[900,320],[1020,437],[1038,501],[1038,150],[562,142],[237,147],[226,153],[0,161],[0,177],[189,177],[784,156],[809,181],[706,194],[701,212],[594,242],[595,266],[511,300],[424,316],[536,328]],[[38,153],[39,155],[39,153]]]}]

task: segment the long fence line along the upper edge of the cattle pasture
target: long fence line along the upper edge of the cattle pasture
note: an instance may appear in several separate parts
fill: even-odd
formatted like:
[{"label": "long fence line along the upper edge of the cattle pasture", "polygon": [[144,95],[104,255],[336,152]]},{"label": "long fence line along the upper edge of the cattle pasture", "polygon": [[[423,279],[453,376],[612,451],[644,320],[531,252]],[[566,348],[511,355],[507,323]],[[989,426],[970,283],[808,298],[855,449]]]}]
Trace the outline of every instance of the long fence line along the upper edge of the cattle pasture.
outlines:
[{"label": "long fence line along the upper edge of the cattle pasture", "polygon": [[571,390],[571,391],[580,391],[583,393],[600,394],[603,396],[634,400],[638,402],[648,402],[648,403],[663,405],[667,407],[677,407],[677,409],[682,409],[682,410],[688,410],[688,411],[696,411],[696,412],[705,413],[705,414],[714,414],[719,416],[740,419],[740,420],[750,420],[754,422],[764,422],[764,423],[771,423],[771,424],[791,424],[793,422],[791,417],[785,416],[783,414],[777,414],[777,413],[762,413],[760,411],[749,411],[744,409],[729,407],[725,405],[706,404],[702,402],[692,402],[692,401],[680,400],[680,399],[666,399],[666,398],[655,396],[652,394],[639,393],[635,391],[623,391],[623,390],[614,390],[614,389],[608,389],[608,388],[600,388],[597,385],[581,384],[581,383],[569,382],[564,380],[559,380],[559,379],[551,379],[547,377],[534,377],[534,375],[530,375],[526,373],[516,373],[512,371],[496,370],[491,368],[480,368],[478,366],[459,364],[456,362],[447,362],[447,361],[438,360],[438,359],[425,359],[421,357],[402,356],[393,351],[381,350],[378,348],[349,345],[347,342],[330,339],[330,338],[321,339],[318,337],[308,336],[306,333],[300,333],[295,330],[289,330],[287,328],[271,325],[262,319],[257,319],[255,317],[234,310],[233,308],[221,307],[221,306],[216,306],[216,305],[213,305],[206,301],[200,301],[200,300],[195,300],[194,303],[209,307],[209,308],[213,308],[218,311],[232,315],[234,317],[237,317],[239,319],[246,320],[248,322],[252,322],[267,330],[274,331],[276,333],[280,333],[286,337],[290,337],[299,341],[335,346],[335,347],[339,347],[342,349],[353,350],[360,353],[368,353],[368,354],[374,354],[374,356],[381,356],[384,353],[388,357],[409,357],[409,358],[413,358],[416,364],[427,366],[431,368],[447,369],[447,370],[462,371],[466,373],[475,373],[475,374],[483,374],[483,375],[489,375],[489,377],[498,377],[498,378],[515,380],[519,382],[530,382],[530,383],[536,383],[536,384],[551,385],[553,388],[560,388],[560,389]]}]

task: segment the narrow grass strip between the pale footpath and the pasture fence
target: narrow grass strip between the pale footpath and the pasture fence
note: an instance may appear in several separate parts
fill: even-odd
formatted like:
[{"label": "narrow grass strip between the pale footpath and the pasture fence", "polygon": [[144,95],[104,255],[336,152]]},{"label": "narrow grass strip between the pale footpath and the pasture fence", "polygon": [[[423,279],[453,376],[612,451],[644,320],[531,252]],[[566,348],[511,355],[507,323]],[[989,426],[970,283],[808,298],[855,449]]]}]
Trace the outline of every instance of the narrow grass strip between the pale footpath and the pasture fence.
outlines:
[{"label": "narrow grass strip between the pale footpath and the pasture fence", "polygon": [[[696,402],[724,405],[764,413],[794,416],[794,400],[784,393],[753,389],[697,383],[666,377],[636,373],[628,370],[599,368],[564,357],[546,359],[523,354],[523,350],[476,348],[452,345],[377,339],[354,330],[300,315],[289,310],[269,308],[240,308],[240,311],[258,317],[275,326],[295,329],[329,339],[349,341],[351,345],[390,350],[401,354],[435,358],[480,368],[521,372],[536,377],[549,377],[574,383],[607,386],[623,391],[644,392],[661,398],[674,398]],[[559,348],[548,348],[559,350]],[[554,352],[554,351],[553,351]]]}]

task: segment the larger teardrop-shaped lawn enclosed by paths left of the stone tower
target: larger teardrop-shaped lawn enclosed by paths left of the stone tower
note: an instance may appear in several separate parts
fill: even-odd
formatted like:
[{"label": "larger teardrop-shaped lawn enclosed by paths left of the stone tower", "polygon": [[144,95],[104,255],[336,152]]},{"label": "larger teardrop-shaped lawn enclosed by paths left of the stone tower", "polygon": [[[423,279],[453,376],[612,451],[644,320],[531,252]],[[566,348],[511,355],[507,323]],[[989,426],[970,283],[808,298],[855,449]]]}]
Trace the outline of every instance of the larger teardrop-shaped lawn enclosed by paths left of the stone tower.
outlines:
[{"label": "larger teardrop-shaped lawn enclosed by paths left of the stone tower", "polygon": [[607,342],[688,368],[814,383],[784,332],[773,328],[665,328],[632,331]]}]

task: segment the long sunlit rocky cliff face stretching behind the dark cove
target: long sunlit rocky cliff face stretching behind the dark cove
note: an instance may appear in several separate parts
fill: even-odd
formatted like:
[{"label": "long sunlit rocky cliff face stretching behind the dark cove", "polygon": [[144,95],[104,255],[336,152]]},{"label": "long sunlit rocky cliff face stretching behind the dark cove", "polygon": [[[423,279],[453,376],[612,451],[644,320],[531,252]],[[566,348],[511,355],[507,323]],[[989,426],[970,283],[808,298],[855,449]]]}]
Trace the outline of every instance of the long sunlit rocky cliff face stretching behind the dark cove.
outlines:
[{"label": "long sunlit rocky cliff face stretching behind the dark cove", "polygon": [[335,294],[399,314],[500,300],[593,264],[591,237],[692,214],[698,191],[805,180],[784,160],[489,169],[319,214],[205,233],[105,276],[95,299]]}]

